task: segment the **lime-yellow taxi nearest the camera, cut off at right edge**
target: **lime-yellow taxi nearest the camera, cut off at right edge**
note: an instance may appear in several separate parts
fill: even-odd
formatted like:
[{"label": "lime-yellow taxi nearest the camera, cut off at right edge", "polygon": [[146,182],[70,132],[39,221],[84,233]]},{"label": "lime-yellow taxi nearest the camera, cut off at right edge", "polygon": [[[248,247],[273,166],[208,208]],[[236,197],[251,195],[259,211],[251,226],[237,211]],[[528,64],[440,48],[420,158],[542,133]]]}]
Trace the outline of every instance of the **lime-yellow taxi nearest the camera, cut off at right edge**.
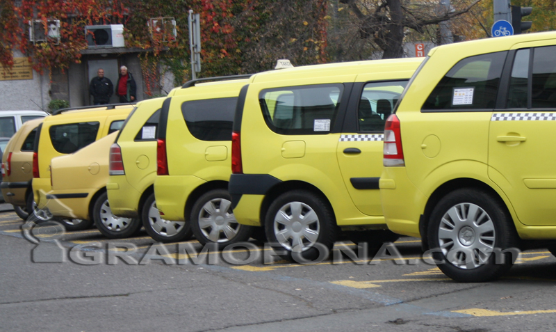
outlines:
[{"label": "lime-yellow taxi nearest the camera, cut off at right edge", "polygon": [[450,278],[493,280],[511,248],[556,239],[554,54],[555,32],[432,49],[386,122],[386,223]]}]

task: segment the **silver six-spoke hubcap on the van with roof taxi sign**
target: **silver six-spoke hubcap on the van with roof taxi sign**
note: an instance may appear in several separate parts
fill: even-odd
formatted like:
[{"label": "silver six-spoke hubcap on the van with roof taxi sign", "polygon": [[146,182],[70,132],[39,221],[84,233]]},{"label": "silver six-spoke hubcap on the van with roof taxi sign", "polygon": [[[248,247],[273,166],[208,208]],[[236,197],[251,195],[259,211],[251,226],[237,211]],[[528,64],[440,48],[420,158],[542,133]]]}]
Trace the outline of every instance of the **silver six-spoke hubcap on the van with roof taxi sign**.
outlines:
[{"label": "silver six-spoke hubcap on the van with roof taxi sign", "polygon": [[306,251],[316,244],[320,223],[309,205],[291,202],[278,211],[274,218],[274,234],[278,243],[289,251]]}]

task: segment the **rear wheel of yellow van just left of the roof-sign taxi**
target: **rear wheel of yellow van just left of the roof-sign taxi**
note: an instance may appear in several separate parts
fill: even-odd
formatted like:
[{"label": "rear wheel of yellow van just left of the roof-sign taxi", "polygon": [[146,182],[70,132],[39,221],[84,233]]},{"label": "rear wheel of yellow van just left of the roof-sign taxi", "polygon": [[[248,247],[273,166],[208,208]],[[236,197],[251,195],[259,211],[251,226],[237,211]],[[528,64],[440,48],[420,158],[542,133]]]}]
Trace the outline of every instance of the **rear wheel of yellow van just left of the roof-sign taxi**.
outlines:
[{"label": "rear wheel of yellow van just left of the roof-sign taxi", "polygon": [[211,190],[199,197],[193,205],[190,221],[197,241],[218,244],[220,249],[247,241],[253,232],[252,227],[240,225],[236,220],[226,189]]}]

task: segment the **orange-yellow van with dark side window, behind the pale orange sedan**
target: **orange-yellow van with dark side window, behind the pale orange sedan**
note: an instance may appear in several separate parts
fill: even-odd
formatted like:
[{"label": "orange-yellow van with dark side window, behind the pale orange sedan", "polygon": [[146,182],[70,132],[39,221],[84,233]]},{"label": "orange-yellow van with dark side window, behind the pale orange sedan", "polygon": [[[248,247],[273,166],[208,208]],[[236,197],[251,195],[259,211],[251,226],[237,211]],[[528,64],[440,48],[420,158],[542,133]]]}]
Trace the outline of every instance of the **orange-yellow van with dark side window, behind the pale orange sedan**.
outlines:
[{"label": "orange-yellow van with dark side window, behind the pale orange sedan", "polygon": [[[132,111],[133,105],[99,106],[92,109],[67,111],[44,119],[37,129],[33,148],[33,195],[40,212],[47,212],[47,203],[52,195],[51,160],[55,157],[74,153],[92,142],[117,131],[122,127],[125,118]],[[107,150],[108,153],[108,150]],[[96,165],[91,164],[94,170]],[[72,177],[61,180],[68,183],[76,182]],[[106,181],[105,181],[106,183]],[[64,188],[65,184],[56,184]],[[84,193],[54,194],[51,198],[60,200],[61,204],[71,205],[71,201],[83,198]],[[40,214],[39,212],[39,214]],[[37,213],[35,213],[37,214]],[[79,213],[81,214],[81,213]],[[47,217],[46,216],[46,217]],[[40,218],[40,215],[38,215]],[[44,217],[43,217],[44,219]],[[92,220],[64,220],[67,230],[81,230],[92,225]]]}]

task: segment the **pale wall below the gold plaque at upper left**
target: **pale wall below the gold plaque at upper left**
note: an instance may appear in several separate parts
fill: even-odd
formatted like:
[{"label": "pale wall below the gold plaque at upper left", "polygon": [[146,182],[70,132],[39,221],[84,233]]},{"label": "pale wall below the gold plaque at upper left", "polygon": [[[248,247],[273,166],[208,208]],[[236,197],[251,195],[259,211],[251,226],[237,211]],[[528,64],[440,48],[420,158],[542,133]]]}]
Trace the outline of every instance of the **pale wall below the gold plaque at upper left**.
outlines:
[{"label": "pale wall below the gold plaque at upper left", "polygon": [[[20,58],[23,54],[14,52],[14,57]],[[0,81],[0,111],[25,109],[47,111],[50,102],[49,90],[48,70],[44,70],[42,76],[33,70],[33,79]]]}]

